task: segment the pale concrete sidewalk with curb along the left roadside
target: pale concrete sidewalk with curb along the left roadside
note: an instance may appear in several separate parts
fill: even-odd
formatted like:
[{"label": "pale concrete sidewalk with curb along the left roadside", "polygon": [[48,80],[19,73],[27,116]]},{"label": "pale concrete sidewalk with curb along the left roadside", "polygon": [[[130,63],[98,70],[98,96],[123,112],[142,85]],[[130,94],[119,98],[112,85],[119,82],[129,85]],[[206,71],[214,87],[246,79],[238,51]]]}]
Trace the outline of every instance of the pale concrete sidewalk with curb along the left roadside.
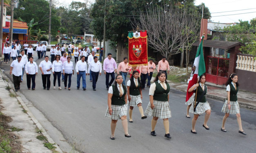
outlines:
[{"label": "pale concrete sidewalk with curb along the left roadside", "polygon": [[[3,107],[1,111],[12,118],[9,126],[22,129],[21,131],[12,131],[19,138],[18,140],[22,145],[21,152],[62,153],[58,145],[55,144],[38,120],[31,114],[22,99],[13,91],[11,88],[13,84],[8,81],[9,78],[0,69],[0,101]],[[40,135],[45,136],[48,141],[38,140],[36,137]],[[45,147],[45,143],[48,143],[48,145],[53,144],[56,147],[55,150]]]}]

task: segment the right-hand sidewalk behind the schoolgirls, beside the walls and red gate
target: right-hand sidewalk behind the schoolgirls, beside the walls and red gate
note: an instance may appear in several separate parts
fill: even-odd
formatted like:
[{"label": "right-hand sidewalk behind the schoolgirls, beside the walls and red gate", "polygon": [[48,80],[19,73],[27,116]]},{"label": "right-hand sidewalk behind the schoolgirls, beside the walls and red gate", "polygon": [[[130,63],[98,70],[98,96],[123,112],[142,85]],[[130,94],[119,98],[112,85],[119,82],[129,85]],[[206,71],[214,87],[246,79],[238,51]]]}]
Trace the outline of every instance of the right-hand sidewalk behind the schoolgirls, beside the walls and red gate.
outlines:
[{"label": "right-hand sidewalk behind the schoolgirls, beside the walls and red gate", "polygon": [[[172,81],[168,81],[168,83],[170,87],[173,87],[176,90],[187,92],[187,83],[173,83]],[[225,99],[227,98],[227,92],[224,86],[215,85],[208,82],[206,82],[205,84],[207,85],[207,97],[223,101],[223,103],[225,102]],[[238,91],[237,99],[241,107],[256,110],[256,94]]]}]

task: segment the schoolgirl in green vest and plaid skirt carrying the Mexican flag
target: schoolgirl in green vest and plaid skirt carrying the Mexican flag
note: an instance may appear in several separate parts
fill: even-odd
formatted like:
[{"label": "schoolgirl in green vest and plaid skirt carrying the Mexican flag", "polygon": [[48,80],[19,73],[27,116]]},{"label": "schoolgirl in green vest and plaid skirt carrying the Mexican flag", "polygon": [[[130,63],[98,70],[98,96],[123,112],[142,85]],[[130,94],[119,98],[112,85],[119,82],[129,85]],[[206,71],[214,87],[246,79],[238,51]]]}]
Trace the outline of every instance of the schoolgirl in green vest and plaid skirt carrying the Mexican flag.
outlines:
[{"label": "schoolgirl in green vest and plaid skirt carrying the Mexican flag", "polygon": [[210,128],[207,126],[207,122],[209,120],[209,117],[211,115],[211,107],[209,103],[206,101],[205,94],[207,93],[207,86],[205,85],[205,75],[202,74],[199,77],[200,83],[196,83],[192,87],[189,88],[189,92],[194,92],[196,88],[198,87],[197,94],[196,94],[196,108],[194,109],[194,103],[191,104],[191,107],[189,109],[190,113],[194,114],[194,118],[192,119],[192,129],[191,133],[196,134],[196,120],[199,116],[199,114],[203,114],[205,112],[205,121],[203,124],[203,127],[207,130]]}]

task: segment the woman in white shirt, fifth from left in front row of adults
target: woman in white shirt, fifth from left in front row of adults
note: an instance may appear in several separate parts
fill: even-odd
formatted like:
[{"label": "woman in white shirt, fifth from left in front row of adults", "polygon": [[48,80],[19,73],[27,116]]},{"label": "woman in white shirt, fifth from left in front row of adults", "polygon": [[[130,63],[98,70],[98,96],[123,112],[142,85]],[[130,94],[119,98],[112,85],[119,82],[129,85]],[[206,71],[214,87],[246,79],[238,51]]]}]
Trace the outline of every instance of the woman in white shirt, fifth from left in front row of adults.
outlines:
[{"label": "woman in white shirt, fifth from left in front row of adults", "polygon": [[65,75],[64,85],[65,85],[65,89],[67,89],[67,77],[69,77],[69,85],[68,85],[69,90],[70,90],[70,86],[71,86],[72,74],[74,75],[73,62],[71,62],[70,59],[71,59],[71,57],[68,56],[67,61],[65,61],[63,63],[63,74]]}]

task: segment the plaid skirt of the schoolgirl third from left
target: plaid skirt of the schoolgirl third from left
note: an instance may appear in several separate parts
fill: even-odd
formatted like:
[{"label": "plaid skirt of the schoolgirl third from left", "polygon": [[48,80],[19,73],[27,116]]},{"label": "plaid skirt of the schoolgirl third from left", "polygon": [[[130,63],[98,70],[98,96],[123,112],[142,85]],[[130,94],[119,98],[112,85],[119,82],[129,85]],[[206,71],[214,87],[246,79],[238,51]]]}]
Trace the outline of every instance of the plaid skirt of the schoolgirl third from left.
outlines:
[{"label": "plaid skirt of the schoolgirl third from left", "polygon": [[171,109],[169,107],[168,101],[153,101],[155,105],[154,109],[151,109],[150,102],[147,105],[147,109],[145,114],[149,116],[158,117],[158,118],[170,118],[171,117]]}]

